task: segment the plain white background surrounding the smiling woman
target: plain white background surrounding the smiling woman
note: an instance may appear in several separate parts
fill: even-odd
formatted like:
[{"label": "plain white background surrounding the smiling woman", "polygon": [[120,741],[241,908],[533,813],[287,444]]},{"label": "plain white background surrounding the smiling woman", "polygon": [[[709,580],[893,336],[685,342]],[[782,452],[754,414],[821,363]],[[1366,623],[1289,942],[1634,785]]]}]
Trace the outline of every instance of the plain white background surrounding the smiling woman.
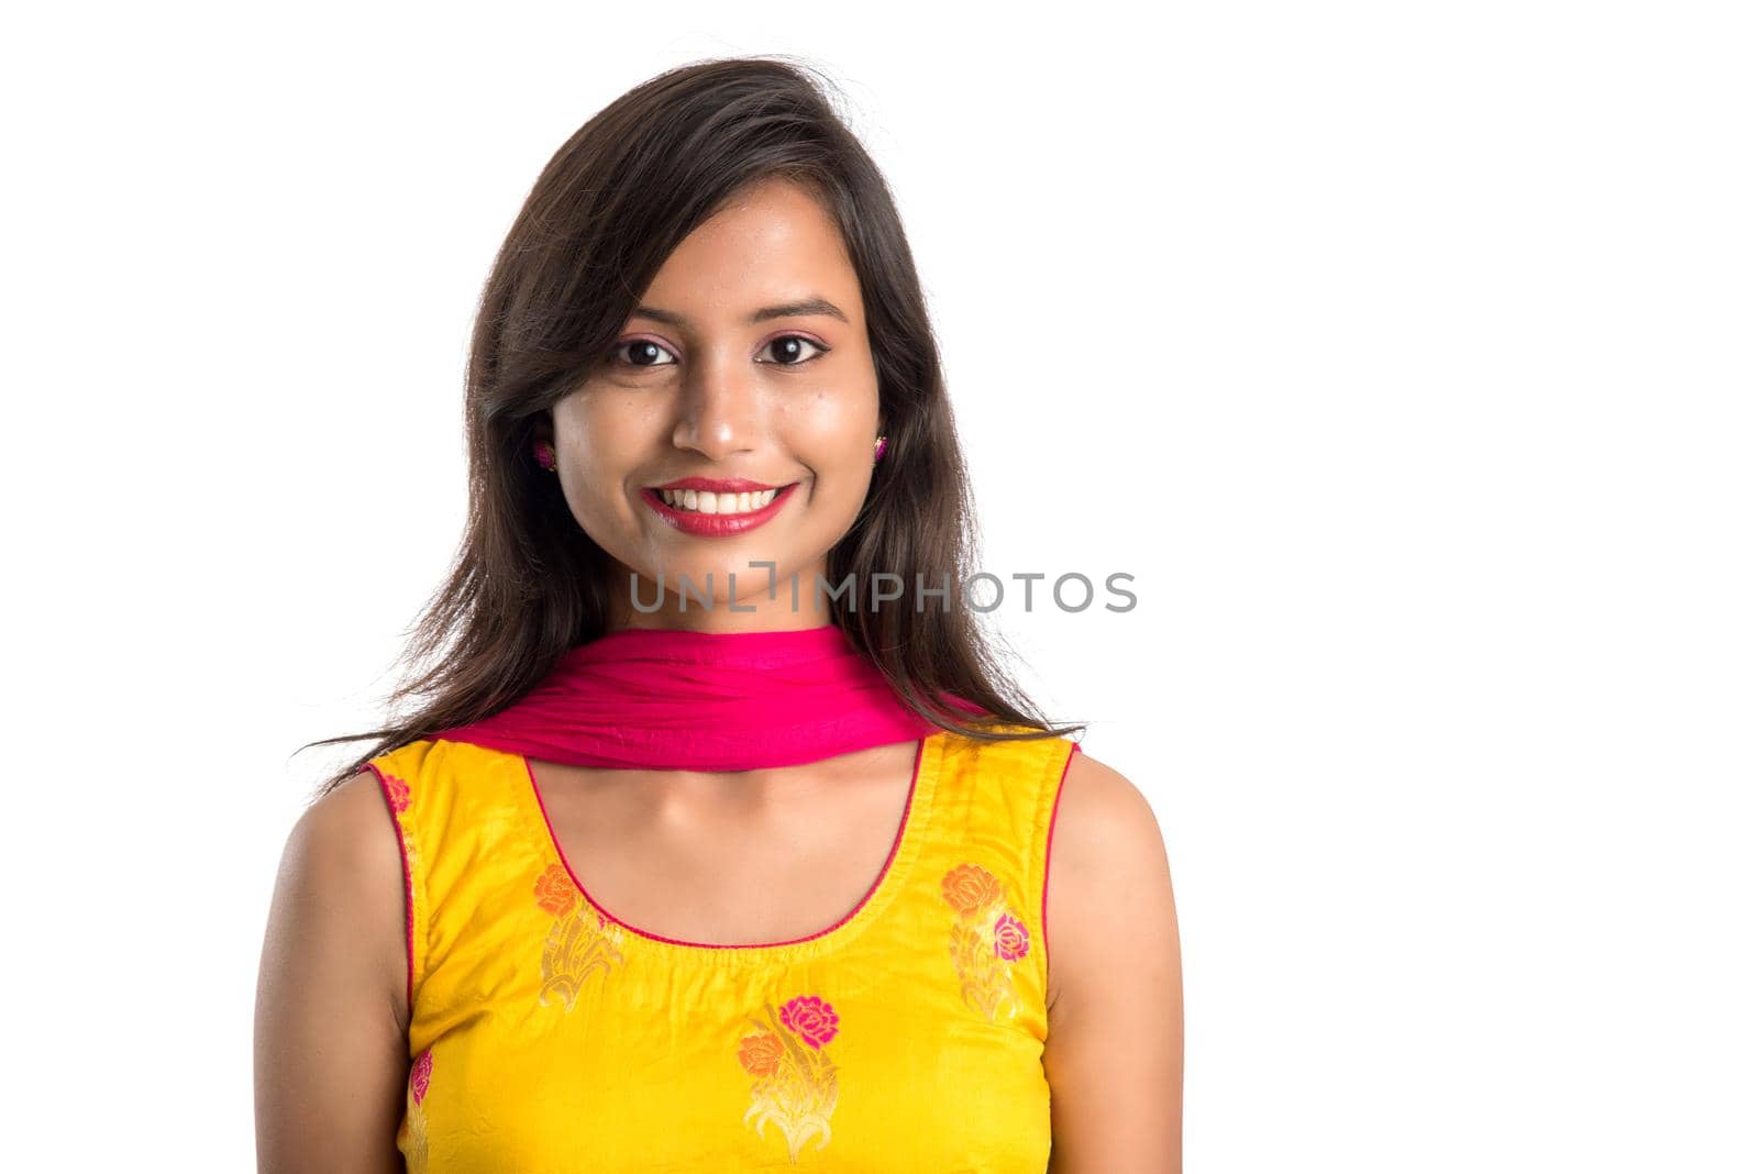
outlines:
[{"label": "plain white background surrounding the smiling woman", "polygon": [[[1191,1170],[1752,1170],[1743,5],[86,5],[4,35],[16,1169],[237,1170],[281,842],[473,302],[661,69],[837,76],[997,622],[1159,814]],[[16,1156],[14,1156],[16,1162]],[[9,1162],[12,1165],[12,1162]]]}]

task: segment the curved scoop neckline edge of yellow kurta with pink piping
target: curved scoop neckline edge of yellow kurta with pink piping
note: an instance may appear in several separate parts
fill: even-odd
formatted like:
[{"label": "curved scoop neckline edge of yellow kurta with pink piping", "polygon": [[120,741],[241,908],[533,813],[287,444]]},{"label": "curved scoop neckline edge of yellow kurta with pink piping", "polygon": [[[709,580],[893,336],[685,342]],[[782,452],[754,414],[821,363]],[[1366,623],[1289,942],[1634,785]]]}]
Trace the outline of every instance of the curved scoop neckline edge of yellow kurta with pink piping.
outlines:
[{"label": "curved scoop neckline edge of yellow kurta with pink piping", "polygon": [[860,902],[855,903],[855,909],[823,930],[783,942],[691,942],[686,938],[654,933],[653,930],[644,930],[642,926],[631,924],[605,909],[605,905],[600,903],[591,891],[588,891],[586,884],[580,882],[579,873],[573,870],[573,863],[568,859],[568,852],[556,837],[556,826],[551,823],[549,807],[544,801],[542,787],[538,787],[536,772],[531,770],[531,756],[517,754],[515,757],[524,766],[531,800],[536,805],[538,819],[542,823],[540,835],[551,856],[554,856],[554,859],[561,863],[563,872],[568,873],[573,891],[609,924],[619,926],[646,942],[653,942],[658,947],[682,956],[723,960],[795,960],[823,954],[841,946],[844,940],[862,933],[862,930],[883,914],[897,893],[909,882],[909,873],[915,868],[916,858],[922,854],[922,840],[927,835],[934,807],[945,736],[945,731],[936,731],[916,740],[916,761],[911,768],[909,789],[904,794],[904,814],[899,817],[897,831],[892,835],[892,851],[887,852],[885,863],[880,866],[880,873],[867,886],[867,891],[862,895]]}]

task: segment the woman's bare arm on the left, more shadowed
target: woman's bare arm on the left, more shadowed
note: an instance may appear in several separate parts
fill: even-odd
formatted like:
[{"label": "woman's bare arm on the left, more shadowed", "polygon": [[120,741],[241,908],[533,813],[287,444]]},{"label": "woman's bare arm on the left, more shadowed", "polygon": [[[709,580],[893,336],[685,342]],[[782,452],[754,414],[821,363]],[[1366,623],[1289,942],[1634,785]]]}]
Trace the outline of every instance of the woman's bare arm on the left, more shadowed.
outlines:
[{"label": "woman's bare arm on the left, more shadowed", "polygon": [[392,1174],[408,1081],[403,859],[368,772],[287,838],[257,977],[257,1169]]}]

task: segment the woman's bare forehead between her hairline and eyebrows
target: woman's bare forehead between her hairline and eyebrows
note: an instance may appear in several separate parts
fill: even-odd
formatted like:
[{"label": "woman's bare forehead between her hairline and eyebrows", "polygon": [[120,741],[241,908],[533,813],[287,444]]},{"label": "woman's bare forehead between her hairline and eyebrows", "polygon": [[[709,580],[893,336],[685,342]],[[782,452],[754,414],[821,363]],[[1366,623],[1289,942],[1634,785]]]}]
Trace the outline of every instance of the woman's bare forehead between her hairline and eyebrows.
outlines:
[{"label": "woman's bare forehead between her hairline and eyebrows", "polygon": [[684,237],[640,301],[709,320],[811,294],[860,313],[860,279],[836,221],[800,185],[769,179]]}]

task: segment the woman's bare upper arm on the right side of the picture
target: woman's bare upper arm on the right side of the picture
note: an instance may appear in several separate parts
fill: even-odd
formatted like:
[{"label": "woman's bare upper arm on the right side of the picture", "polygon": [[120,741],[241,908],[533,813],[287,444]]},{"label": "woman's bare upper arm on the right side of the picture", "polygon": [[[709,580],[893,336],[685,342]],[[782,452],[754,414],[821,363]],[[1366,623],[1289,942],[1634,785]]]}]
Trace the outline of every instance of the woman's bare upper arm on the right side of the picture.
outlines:
[{"label": "woman's bare upper arm on the right side of the picture", "polygon": [[1179,1174],[1184,981],[1166,844],[1143,794],[1069,763],[1048,866],[1052,1174]]}]

